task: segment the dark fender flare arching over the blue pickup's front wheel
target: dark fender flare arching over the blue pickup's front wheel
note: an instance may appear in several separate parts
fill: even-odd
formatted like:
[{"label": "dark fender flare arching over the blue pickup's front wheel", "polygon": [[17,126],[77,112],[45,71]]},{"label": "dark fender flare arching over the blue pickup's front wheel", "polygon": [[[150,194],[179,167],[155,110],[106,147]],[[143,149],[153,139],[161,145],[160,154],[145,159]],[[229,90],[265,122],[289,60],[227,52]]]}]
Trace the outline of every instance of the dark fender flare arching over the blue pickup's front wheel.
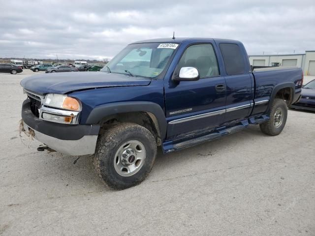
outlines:
[{"label": "dark fender flare arching over the blue pickup's front wheel", "polygon": [[158,132],[162,140],[166,137],[166,118],[163,109],[154,102],[115,102],[95,107],[88,116],[87,124],[98,124],[104,118],[128,112],[147,112],[155,116],[158,122]]}]

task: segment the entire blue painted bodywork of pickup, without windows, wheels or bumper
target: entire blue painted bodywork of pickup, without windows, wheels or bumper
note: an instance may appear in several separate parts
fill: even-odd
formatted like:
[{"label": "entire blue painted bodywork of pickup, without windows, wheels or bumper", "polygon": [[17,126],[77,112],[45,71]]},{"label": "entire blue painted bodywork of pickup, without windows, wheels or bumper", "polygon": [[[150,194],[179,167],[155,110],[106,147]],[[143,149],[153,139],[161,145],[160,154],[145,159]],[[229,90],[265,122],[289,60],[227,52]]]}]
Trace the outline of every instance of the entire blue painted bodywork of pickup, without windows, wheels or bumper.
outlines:
[{"label": "entire blue painted bodywork of pickup, without windows, wheels or bumper", "polygon": [[[216,139],[268,120],[270,101],[279,89],[292,90],[291,103],[300,98],[303,76],[300,68],[252,72],[246,50],[239,41],[164,38],[133,44],[137,43],[177,43],[179,46],[161,76],[154,79],[107,72],[65,72],[35,75],[22,80],[21,85],[39,94],[60,93],[79,99],[83,107],[81,124],[87,124],[95,108],[107,104],[139,101],[158,104],[167,126],[165,136],[160,137],[164,152]],[[226,72],[221,43],[238,45],[245,61],[244,73]],[[174,71],[185,50],[193,44],[212,45],[220,74],[197,81],[175,82]],[[224,86],[223,91],[216,89],[219,84]]]}]

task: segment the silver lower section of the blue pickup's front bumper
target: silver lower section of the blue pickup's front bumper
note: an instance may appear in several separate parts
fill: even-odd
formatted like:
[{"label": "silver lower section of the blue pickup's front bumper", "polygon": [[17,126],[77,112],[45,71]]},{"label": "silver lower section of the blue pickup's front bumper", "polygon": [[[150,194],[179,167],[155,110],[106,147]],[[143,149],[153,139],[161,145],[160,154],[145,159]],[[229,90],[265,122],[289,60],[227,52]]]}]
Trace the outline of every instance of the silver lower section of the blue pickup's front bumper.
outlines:
[{"label": "silver lower section of the blue pickup's front bumper", "polygon": [[95,153],[98,135],[85,135],[79,140],[61,140],[34,130],[24,122],[24,129],[29,132],[32,129],[35,139],[63,154],[81,156]]}]

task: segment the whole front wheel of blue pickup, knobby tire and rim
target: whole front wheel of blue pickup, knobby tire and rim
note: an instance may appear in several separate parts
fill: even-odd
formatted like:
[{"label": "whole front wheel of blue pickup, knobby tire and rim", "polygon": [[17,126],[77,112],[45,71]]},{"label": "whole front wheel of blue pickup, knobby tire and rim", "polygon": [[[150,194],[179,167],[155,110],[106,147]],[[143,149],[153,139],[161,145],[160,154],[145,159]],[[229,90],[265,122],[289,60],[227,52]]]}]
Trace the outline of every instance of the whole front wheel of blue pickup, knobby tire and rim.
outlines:
[{"label": "whole front wheel of blue pickup, knobby tire and rim", "polygon": [[[134,143],[138,146],[132,148]],[[141,183],[149,175],[156,155],[156,140],[148,129],[135,123],[121,123],[98,136],[93,167],[108,188],[122,190]],[[126,163],[127,160],[133,164]],[[134,171],[130,171],[132,169]]]}]

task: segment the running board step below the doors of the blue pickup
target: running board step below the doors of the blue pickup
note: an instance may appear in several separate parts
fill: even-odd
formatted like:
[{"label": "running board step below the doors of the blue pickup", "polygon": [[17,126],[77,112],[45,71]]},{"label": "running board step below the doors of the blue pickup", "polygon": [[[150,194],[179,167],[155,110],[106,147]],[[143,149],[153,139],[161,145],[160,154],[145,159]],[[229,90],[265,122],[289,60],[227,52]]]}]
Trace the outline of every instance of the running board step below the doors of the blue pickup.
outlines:
[{"label": "running board step below the doors of the blue pickup", "polygon": [[188,135],[180,139],[163,142],[162,149],[164,153],[168,153],[168,152],[177,151],[184,148],[189,148],[198,144],[202,144],[208,141],[221,138],[222,136],[225,136],[228,134],[233,134],[237,131],[247,128],[248,126],[249,126],[248,119],[242,120],[236,123],[234,126],[230,126],[230,127],[222,126],[217,129],[211,129],[208,132],[203,131],[199,135],[193,134],[193,135]]}]

